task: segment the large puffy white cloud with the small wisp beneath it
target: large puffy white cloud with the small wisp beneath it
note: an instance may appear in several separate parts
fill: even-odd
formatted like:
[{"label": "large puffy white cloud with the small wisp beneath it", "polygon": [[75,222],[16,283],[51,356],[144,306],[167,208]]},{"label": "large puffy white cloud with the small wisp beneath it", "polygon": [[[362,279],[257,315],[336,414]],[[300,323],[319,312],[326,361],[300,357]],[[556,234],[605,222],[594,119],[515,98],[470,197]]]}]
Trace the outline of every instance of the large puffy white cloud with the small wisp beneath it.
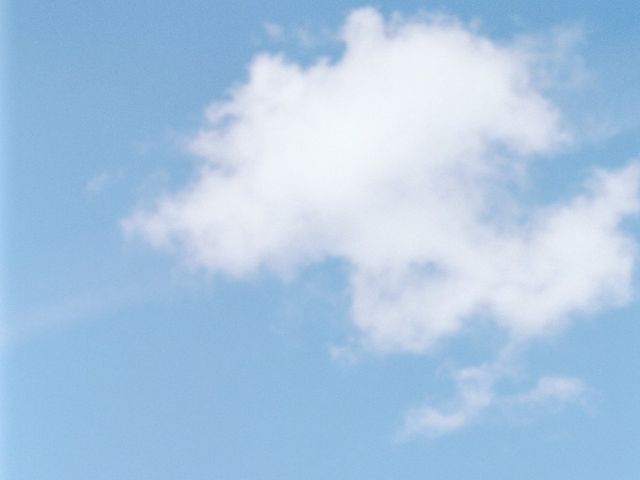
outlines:
[{"label": "large puffy white cloud with the small wisp beneath it", "polygon": [[[360,345],[379,352],[425,352],[479,313],[521,341],[629,298],[635,244],[620,225],[639,208],[637,164],[592,172],[564,203],[513,195],[530,162],[571,141],[539,51],[371,8],[341,40],[339,58],[310,65],[257,55],[207,109],[193,180],[126,229],[237,278],[340,259]],[[468,412],[491,401],[476,387],[460,390]],[[415,418],[447,429],[468,412]]]}]

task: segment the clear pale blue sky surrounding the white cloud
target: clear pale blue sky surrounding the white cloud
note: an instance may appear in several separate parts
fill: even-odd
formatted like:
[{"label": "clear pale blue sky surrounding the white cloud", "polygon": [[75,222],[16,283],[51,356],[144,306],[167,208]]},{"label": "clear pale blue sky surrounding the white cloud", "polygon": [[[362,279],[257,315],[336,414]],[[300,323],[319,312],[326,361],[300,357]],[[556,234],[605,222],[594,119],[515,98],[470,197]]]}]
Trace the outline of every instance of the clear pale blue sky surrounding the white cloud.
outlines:
[{"label": "clear pale blue sky surrounding the white cloud", "polygon": [[[189,177],[194,160],[180,138],[245,77],[257,51],[285,49],[302,60],[336,53],[328,40],[307,49],[270,41],[265,21],[335,28],[361,5],[6,7],[7,480],[639,478],[637,302],[580,319],[525,355],[532,378],[584,379],[595,392],[589,405],[492,414],[450,436],[398,442],[408,406],[450,393],[442,363],[488,359],[496,332],[434,356],[342,364],[329,353],[354,334],[340,264],[289,283],[234,283],[123,236],[119,222],[138,202]],[[589,78],[553,95],[578,124],[604,119],[617,130],[535,169],[532,201],[568,195],[589,166],[640,154],[639,2],[375,6],[478,18],[495,38],[583,28]],[[101,188],[87,189],[103,174]]]}]

